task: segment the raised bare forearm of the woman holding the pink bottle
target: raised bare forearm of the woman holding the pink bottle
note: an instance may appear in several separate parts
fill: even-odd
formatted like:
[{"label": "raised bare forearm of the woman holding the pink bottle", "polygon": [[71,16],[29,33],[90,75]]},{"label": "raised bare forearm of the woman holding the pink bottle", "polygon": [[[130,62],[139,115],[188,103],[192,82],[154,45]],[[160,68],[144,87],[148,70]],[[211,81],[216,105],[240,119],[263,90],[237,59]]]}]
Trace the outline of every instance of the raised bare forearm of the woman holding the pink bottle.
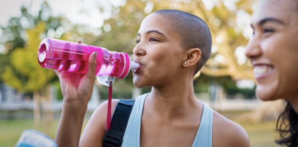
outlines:
[{"label": "raised bare forearm of the woman holding the pink bottle", "polygon": [[79,146],[80,134],[87,110],[85,103],[63,103],[62,114],[55,135],[58,146]]}]

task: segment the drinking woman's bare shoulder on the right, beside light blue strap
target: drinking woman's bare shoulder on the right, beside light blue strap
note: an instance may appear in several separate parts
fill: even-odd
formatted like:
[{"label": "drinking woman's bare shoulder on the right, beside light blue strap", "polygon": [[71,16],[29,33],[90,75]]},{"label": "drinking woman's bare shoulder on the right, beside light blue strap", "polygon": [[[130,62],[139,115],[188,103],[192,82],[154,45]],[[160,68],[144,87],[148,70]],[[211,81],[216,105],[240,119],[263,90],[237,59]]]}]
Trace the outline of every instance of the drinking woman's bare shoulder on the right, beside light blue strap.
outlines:
[{"label": "drinking woman's bare shoulder on the right, beside light blue strap", "polygon": [[213,111],[213,146],[241,146],[249,147],[249,138],[246,131],[239,124]]}]

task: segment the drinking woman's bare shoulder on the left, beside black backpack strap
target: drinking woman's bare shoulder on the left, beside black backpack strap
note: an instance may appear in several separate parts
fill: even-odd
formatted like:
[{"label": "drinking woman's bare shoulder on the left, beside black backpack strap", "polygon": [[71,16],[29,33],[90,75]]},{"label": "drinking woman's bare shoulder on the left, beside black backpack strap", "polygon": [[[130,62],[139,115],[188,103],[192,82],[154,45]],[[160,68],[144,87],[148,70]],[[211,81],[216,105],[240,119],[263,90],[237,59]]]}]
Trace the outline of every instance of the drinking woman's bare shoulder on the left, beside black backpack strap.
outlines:
[{"label": "drinking woman's bare shoulder on the left, beside black backpack strap", "polygon": [[[119,100],[112,99],[111,113]],[[105,135],[105,125],[107,121],[108,101],[106,100],[93,112],[89,122],[87,123],[80,139],[80,146],[101,146]]]}]

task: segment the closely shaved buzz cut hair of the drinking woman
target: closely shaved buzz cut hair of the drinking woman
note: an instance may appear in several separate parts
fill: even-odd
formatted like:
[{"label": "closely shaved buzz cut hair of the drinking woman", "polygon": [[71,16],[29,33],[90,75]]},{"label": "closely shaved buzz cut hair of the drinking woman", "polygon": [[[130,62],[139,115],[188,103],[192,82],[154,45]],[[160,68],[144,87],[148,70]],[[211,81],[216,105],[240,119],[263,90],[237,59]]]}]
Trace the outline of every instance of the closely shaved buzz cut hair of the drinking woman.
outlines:
[{"label": "closely shaved buzz cut hair of the drinking woman", "polygon": [[170,20],[171,27],[181,36],[181,47],[201,49],[202,55],[195,68],[195,75],[211,55],[212,37],[208,25],[200,17],[179,10],[165,9],[154,13]]}]

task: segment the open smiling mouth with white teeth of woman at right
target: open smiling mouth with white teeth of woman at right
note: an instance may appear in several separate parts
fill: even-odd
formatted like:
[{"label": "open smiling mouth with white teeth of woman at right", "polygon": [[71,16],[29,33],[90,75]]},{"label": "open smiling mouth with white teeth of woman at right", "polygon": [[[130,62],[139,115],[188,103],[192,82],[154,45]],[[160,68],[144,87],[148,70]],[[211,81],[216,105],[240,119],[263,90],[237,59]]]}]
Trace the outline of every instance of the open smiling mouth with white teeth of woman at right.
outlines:
[{"label": "open smiling mouth with white teeth of woman at right", "polygon": [[274,66],[273,65],[268,65],[268,64],[257,64],[254,65],[254,77],[257,80],[266,78],[270,76],[274,71]]}]

